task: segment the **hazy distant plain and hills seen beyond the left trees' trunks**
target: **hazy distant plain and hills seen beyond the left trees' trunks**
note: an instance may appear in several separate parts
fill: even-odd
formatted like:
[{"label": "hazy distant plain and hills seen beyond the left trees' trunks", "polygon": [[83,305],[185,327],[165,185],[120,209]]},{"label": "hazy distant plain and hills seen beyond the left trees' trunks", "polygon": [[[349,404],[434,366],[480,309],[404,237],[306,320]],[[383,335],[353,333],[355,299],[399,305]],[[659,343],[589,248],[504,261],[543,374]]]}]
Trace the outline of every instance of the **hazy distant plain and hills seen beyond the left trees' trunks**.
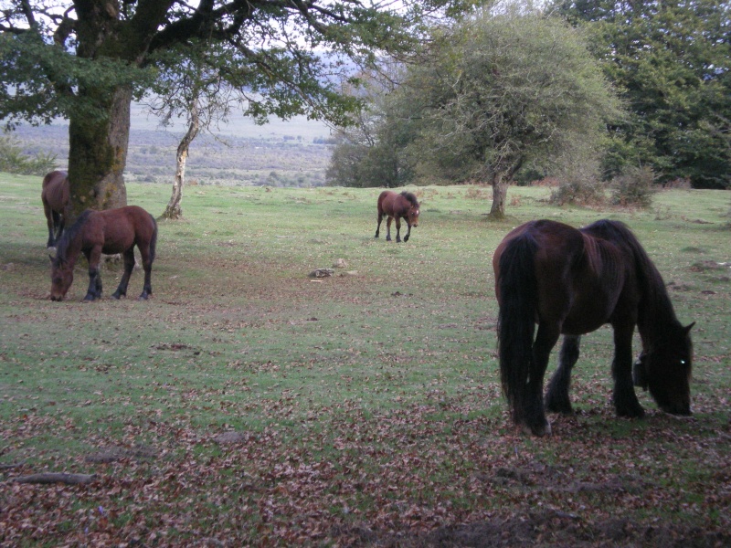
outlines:
[{"label": "hazy distant plain and hills seen beyond the left trees' trunks", "polygon": [[[185,124],[161,128],[138,104],[132,105],[132,131],[125,180],[171,183],[175,151]],[[26,153],[52,153],[58,167],[69,157],[69,126],[58,121],[49,126],[23,125],[15,132]],[[219,128],[216,136],[199,135],[190,148],[185,178],[188,184],[318,186],[330,161],[330,129],[319,121],[298,116],[291,121],[273,119],[258,126],[238,115]]]}]

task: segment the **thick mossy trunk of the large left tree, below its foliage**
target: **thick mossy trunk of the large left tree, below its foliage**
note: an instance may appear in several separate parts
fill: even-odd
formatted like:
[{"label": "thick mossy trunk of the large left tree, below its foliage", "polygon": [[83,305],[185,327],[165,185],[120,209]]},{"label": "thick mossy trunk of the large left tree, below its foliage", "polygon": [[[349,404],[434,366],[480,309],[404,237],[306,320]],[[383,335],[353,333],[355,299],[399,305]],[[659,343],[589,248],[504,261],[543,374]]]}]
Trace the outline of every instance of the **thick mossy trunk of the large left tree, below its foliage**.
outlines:
[{"label": "thick mossy trunk of the large left tree, below its foliage", "polygon": [[[101,102],[107,118],[69,121],[69,186],[72,212],[127,205],[123,172],[130,138],[132,91],[118,89]],[[100,104],[98,101],[97,104]]]}]

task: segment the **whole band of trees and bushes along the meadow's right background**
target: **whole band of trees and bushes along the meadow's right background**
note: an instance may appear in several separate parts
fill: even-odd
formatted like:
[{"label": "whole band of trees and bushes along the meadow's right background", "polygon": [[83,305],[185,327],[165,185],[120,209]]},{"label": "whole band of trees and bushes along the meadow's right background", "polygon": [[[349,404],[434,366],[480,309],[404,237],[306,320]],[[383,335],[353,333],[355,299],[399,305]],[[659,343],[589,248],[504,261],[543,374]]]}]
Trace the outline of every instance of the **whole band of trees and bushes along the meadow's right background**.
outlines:
[{"label": "whole band of trees and bushes along the meadow's right background", "polygon": [[729,26],[717,0],[483,7],[432,28],[418,62],[362,75],[327,182],[727,188]]}]

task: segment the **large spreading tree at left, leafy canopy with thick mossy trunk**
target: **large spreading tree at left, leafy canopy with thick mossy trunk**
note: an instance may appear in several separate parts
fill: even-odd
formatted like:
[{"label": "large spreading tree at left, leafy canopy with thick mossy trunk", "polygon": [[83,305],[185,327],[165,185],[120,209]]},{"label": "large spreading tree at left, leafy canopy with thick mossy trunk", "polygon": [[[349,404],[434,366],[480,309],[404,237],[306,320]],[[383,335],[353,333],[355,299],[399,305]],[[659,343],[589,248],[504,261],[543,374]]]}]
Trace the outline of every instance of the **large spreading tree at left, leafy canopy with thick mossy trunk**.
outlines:
[{"label": "large spreading tree at left, leafy canopy with thick mossy trunk", "polygon": [[[129,105],[186,58],[248,93],[247,113],[343,121],[348,63],[404,54],[430,16],[472,0],[4,0],[0,10],[0,118],[69,119],[75,210],[126,201],[122,171]],[[175,51],[175,55],[170,52]],[[192,66],[195,66],[193,63]]]}]

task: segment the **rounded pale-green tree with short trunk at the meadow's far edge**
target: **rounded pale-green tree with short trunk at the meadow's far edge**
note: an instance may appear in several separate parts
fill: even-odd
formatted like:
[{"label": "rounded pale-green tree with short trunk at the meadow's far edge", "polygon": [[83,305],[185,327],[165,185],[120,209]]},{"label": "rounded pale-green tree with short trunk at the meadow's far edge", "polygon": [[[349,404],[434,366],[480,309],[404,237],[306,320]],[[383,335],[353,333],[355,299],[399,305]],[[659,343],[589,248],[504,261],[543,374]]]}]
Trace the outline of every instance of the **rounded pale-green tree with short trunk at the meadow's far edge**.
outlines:
[{"label": "rounded pale-green tree with short trunk at the meadow's far edge", "polygon": [[[493,187],[490,216],[505,216],[507,188],[530,160],[563,158],[597,143],[619,101],[581,35],[539,13],[482,11],[445,33],[436,55],[412,71],[426,94],[421,139],[474,163]],[[423,145],[422,145],[423,148]]]}]

